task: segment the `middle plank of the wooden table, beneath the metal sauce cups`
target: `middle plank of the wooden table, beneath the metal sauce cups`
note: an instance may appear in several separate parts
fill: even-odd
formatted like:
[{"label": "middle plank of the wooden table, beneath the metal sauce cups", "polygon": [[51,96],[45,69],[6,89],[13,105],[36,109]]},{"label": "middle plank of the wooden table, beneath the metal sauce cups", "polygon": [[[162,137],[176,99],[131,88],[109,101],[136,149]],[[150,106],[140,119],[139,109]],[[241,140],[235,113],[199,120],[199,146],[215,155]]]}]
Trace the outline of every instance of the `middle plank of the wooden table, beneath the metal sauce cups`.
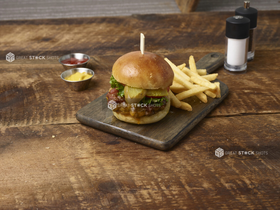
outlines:
[{"label": "middle plank of the wooden table, beneath the metal sauce cups", "polygon": [[[198,60],[204,53],[193,55]],[[166,57],[176,65],[187,62],[183,57]],[[216,70],[218,79],[227,84],[230,92],[206,117],[280,113],[280,93],[276,91],[280,89],[279,57],[280,52],[274,50],[256,53],[256,60],[248,63],[248,72],[242,75],[226,74],[223,67]],[[77,123],[76,112],[109,90],[111,68],[117,58],[118,55],[91,56],[88,67],[94,69],[95,75],[82,92],[70,91],[61,80],[64,69],[60,64],[52,64],[48,71],[45,65],[1,65],[0,125]]]}]

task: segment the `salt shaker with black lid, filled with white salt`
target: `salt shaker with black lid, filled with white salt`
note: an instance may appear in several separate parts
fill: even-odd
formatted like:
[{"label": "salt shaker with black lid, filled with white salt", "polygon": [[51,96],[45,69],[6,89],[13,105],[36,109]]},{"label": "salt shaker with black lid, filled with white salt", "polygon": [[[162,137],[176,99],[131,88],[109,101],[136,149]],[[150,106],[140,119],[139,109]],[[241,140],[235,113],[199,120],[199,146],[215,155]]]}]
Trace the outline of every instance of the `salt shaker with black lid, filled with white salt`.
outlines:
[{"label": "salt shaker with black lid, filled with white salt", "polygon": [[249,28],[249,18],[236,15],[226,20],[224,67],[229,74],[242,74],[247,71]]}]

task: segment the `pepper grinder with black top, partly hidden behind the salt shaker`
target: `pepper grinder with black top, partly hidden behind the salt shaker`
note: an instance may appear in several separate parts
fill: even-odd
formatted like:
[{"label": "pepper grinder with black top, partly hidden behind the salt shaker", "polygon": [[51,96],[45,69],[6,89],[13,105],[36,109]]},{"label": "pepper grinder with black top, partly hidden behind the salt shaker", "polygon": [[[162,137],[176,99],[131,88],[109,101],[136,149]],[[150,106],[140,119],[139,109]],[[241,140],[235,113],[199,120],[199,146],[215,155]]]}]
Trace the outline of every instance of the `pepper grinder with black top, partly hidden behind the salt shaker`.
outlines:
[{"label": "pepper grinder with black top, partly hidden behind the salt shaker", "polygon": [[235,10],[235,15],[241,15],[250,19],[250,36],[247,60],[253,60],[255,56],[258,10],[250,7],[250,1],[244,1],[244,7],[237,8]]}]

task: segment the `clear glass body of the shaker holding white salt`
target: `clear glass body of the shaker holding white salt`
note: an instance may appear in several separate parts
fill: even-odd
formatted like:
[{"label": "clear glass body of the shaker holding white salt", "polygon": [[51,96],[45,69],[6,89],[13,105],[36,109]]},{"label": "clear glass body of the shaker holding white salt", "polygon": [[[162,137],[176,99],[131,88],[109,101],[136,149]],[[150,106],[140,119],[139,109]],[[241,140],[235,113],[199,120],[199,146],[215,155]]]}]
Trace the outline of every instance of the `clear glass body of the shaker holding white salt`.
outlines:
[{"label": "clear glass body of the shaker holding white salt", "polygon": [[226,37],[225,42],[225,71],[230,74],[246,73],[249,37],[232,39]]}]

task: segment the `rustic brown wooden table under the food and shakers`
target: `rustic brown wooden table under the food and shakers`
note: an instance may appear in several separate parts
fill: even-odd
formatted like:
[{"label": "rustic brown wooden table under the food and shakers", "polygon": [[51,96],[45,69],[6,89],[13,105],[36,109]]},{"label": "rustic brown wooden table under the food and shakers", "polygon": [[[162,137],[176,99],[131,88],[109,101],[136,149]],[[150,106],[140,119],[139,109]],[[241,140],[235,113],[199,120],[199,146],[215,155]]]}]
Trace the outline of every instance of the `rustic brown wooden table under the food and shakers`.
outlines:
[{"label": "rustic brown wooden table under the food and shakers", "polygon": [[[109,89],[115,60],[139,50],[141,32],[147,51],[178,65],[190,55],[198,60],[224,53],[225,19],[231,15],[0,22],[1,50],[82,52],[91,56],[88,67],[95,71],[87,90],[73,92],[60,78],[60,64],[0,66],[0,209],[279,208],[279,11],[259,12],[248,72],[216,70],[228,97],[171,150],[75,118]],[[218,158],[219,147],[237,154]]]}]

